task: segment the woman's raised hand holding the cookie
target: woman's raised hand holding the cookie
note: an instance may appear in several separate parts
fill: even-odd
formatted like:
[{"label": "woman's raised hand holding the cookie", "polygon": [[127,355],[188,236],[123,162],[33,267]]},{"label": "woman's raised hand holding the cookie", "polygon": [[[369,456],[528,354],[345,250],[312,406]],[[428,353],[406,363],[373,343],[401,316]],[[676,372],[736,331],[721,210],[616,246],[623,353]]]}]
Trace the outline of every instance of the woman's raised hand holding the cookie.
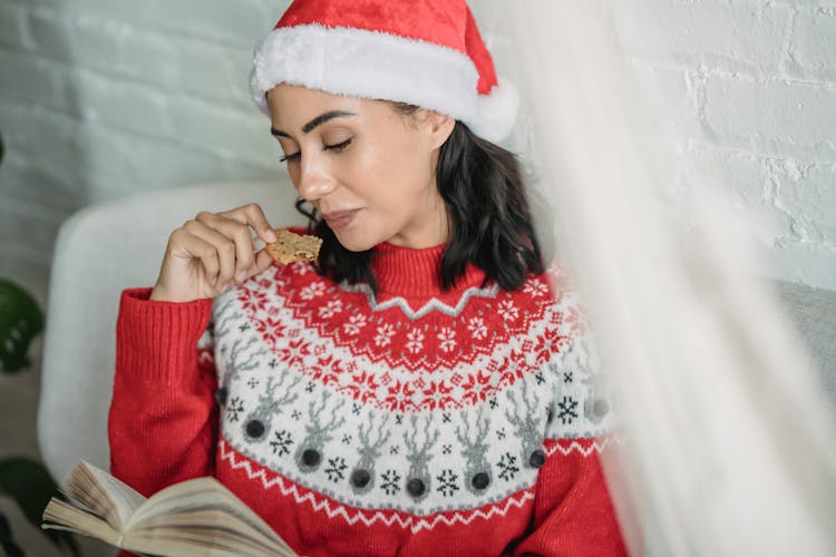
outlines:
[{"label": "woman's raised hand holding the cookie", "polygon": [[264,250],[255,253],[251,229],[275,242],[261,207],[253,203],[223,213],[200,213],[168,238],[163,266],[150,300],[191,302],[215,297],[273,263]]}]

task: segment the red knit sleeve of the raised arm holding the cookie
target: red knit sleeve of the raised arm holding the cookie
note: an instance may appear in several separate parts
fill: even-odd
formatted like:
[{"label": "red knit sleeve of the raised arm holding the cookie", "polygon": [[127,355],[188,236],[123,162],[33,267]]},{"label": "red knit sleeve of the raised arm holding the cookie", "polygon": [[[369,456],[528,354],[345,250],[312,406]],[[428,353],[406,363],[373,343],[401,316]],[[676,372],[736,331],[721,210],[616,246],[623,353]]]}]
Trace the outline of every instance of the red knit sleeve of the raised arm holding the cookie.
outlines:
[{"label": "red knit sleeve of the raised arm holding the cookie", "polygon": [[146,497],[212,475],[217,436],[214,363],[197,351],[212,301],[149,295],[150,289],[121,294],[108,419],[110,471]]}]

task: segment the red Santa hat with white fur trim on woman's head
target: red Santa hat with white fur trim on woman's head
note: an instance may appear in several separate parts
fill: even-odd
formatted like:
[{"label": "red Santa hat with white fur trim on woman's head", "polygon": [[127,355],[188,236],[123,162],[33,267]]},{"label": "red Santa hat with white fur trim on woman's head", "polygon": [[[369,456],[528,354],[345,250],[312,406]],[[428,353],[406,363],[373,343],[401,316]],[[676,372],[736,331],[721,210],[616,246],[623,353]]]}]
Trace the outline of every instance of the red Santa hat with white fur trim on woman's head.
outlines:
[{"label": "red Santa hat with white fur trim on woman's head", "polygon": [[255,49],[250,91],[264,114],[281,82],[429,108],[492,141],[518,105],[464,0],[295,0]]}]

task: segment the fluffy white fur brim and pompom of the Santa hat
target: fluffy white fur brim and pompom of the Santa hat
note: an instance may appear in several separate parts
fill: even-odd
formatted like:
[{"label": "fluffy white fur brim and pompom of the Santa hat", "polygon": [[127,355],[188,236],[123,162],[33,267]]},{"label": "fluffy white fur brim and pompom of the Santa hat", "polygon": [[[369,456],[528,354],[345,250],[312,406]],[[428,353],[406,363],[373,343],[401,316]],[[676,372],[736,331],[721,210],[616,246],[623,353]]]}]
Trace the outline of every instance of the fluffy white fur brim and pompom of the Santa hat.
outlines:
[{"label": "fluffy white fur brim and pompom of the Santa hat", "polygon": [[[500,82],[489,96],[480,96],[477,81],[473,60],[457,50],[379,31],[307,25],[274,29],[262,39],[250,92],[266,115],[264,95],[282,82],[408,102],[449,115],[486,139],[498,140],[513,126],[516,90]],[[511,114],[495,113],[508,108]],[[502,129],[494,129],[497,125]]]}]

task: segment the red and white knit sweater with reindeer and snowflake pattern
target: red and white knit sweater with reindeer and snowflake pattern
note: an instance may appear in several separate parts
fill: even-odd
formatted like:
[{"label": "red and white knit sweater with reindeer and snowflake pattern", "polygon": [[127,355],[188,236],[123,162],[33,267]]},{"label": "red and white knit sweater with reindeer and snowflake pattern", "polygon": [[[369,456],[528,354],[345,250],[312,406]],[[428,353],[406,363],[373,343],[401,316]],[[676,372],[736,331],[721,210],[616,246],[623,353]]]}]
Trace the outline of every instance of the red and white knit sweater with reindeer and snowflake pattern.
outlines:
[{"label": "red and white knit sweater with reindeer and snowflake pattern", "polygon": [[576,295],[475,266],[443,291],[443,251],[381,244],[377,294],[307,263],[214,303],[125,291],[114,475],[214,475],[308,556],[626,555]]}]

